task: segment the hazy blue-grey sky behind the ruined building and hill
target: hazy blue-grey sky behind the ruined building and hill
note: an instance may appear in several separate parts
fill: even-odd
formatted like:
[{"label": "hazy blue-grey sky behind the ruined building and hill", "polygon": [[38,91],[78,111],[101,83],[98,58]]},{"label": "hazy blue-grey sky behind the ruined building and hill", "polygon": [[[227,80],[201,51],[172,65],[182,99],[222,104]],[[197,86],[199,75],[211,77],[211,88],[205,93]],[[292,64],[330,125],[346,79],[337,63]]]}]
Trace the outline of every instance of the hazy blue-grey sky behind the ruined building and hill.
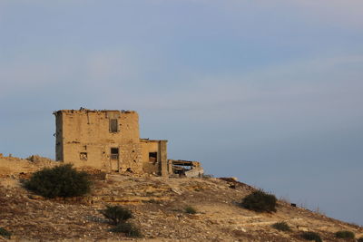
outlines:
[{"label": "hazy blue-grey sky behind the ruined building and hill", "polygon": [[139,112],[171,159],[363,225],[363,1],[1,0],[0,153],[62,109]]}]

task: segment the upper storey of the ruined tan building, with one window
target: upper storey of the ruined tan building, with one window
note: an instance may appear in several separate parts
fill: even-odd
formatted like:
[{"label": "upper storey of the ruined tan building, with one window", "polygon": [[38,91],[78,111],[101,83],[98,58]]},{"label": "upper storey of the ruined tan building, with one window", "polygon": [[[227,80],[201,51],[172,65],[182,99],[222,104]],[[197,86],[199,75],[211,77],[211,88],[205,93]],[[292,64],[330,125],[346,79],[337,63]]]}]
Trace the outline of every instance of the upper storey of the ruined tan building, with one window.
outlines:
[{"label": "upper storey of the ruined tan building, with one window", "polygon": [[125,143],[139,142],[136,111],[54,111],[56,142]]}]

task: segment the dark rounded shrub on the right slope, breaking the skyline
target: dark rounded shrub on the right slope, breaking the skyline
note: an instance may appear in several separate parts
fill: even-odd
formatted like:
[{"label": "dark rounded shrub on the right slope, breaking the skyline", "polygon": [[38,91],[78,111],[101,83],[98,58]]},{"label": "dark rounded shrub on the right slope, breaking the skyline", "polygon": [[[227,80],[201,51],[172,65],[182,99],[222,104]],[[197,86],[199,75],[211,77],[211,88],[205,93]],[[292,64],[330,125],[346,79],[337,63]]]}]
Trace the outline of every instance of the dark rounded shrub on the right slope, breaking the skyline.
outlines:
[{"label": "dark rounded shrub on the right slope, breaking the skyline", "polygon": [[257,190],[243,198],[240,206],[256,212],[276,212],[276,202],[275,195]]}]

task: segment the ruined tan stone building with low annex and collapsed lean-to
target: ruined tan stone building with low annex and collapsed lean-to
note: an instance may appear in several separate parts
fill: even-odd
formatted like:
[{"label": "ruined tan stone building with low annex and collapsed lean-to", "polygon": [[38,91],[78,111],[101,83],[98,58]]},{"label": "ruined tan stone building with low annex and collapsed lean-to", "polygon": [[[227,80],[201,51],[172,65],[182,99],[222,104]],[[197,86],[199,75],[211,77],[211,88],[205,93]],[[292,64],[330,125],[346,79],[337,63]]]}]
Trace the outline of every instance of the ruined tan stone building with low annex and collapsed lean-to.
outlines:
[{"label": "ruined tan stone building with low annex and collapsed lean-to", "polygon": [[76,167],[107,171],[190,174],[202,169],[197,161],[168,160],[167,140],[141,139],[136,111],[61,110],[55,115],[55,158]]}]

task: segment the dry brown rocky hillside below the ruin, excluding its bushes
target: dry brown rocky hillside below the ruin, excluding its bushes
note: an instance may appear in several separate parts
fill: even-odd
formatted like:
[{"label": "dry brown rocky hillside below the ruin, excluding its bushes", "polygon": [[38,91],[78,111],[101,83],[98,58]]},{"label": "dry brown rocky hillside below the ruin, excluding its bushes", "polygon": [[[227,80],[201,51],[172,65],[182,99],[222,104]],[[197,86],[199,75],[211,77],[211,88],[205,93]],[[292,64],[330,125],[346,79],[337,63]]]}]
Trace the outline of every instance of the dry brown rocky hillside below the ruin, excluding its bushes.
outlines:
[{"label": "dry brown rocky hillside below the ruin, excluding its bushes", "polygon": [[[13,164],[11,167],[7,167]],[[323,241],[349,230],[363,237],[363,228],[327,218],[279,201],[276,213],[240,208],[254,188],[233,179],[162,179],[93,173],[93,192],[87,197],[44,199],[20,186],[34,170],[53,166],[49,160],[0,158],[0,227],[15,241],[307,241],[303,231],[318,232]],[[22,169],[22,167],[24,169]],[[6,170],[6,172],[5,172]],[[22,171],[24,170],[24,171]],[[100,209],[122,205],[132,210],[132,222],[142,238],[110,232]],[[195,208],[196,214],[185,212]],[[272,224],[285,221],[292,231]],[[0,241],[8,241],[0,237]]]}]

